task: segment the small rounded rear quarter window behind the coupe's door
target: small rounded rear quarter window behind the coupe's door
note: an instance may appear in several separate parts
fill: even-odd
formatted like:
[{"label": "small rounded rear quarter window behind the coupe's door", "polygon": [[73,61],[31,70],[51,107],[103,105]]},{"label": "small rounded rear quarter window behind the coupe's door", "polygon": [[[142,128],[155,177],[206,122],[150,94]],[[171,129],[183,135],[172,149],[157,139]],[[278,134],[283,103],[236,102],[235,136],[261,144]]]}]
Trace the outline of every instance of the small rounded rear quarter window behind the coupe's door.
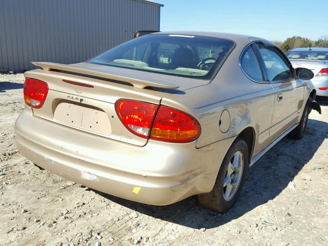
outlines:
[{"label": "small rounded rear quarter window behind the coupe's door", "polygon": [[262,81],[263,76],[261,72],[260,65],[258,63],[258,59],[252,49],[252,46],[249,46],[241,55],[240,65],[244,70],[245,74],[248,75],[250,78]]}]

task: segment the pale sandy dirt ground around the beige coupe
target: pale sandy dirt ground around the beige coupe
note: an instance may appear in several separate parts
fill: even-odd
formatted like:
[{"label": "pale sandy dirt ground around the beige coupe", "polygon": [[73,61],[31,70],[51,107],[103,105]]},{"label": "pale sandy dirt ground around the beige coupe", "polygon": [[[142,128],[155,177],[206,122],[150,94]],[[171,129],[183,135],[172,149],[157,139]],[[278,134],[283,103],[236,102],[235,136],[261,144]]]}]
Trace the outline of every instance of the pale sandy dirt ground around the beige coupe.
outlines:
[{"label": "pale sandy dirt ground around the beige coupe", "polygon": [[328,100],[304,138],[282,139],[217,214],[195,197],[148,206],[40,171],[14,141],[23,80],[0,75],[0,245],[328,245]]}]

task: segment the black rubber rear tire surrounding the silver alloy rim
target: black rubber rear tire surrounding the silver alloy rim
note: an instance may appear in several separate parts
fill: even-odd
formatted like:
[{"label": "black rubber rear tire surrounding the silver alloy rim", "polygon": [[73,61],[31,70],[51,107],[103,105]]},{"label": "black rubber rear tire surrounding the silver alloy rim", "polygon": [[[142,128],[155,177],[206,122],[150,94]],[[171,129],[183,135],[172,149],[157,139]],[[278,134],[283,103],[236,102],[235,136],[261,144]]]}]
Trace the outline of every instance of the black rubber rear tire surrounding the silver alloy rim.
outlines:
[{"label": "black rubber rear tire surrounding the silver alloy rim", "polygon": [[[241,174],[242,176],[239,185],[236,188],[233,198],[227,201],[223,195],[224,193],[223,181],[224,178],[226,178],[228,165],[232,160],[233,156],[237,152],[241,152],[243,156],[243,165],[242,165],[242,174]],[[247,174],[248,168],[249,168],[249,155],[248,155],[247,144],[241,138],[237,138],[233,142],[232,146],[228,150],[228,153],[226,154],[226,156],[222,161],[213,190],[210,193],[197,195],[200,204],[202,204],[202,206],[208,209],[214,210],[219,213],[227,212],[229,209],[231,209],[234,206],[234,204],[238,200],[238,197],[243,187],[243,183],[245,181],[245,176]]]}]

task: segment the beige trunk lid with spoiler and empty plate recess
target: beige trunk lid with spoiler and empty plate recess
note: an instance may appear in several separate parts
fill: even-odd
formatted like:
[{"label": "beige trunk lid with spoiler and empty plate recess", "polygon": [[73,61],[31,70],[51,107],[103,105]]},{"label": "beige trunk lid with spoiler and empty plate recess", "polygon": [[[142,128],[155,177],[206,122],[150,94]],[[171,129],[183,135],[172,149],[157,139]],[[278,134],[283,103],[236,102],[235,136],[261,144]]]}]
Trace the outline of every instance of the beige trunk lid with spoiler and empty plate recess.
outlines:
[{"label": "beige trunk lid with spoiler and empty plate recess", "polygon": [[25,76],[45,81],[49,87],[43,107],[33,109],[35,116],[138,146],[146,145],[147,139],[134,135],[122,124],[115,111],[118,99],[159,105],[162,97],[172,93],[185,94],[181,89],[209,83],[207,80],[161,74],[157,76],[148,72],[132,72],[129,69],[86,63],[34,64],[44,70],[28,71]]}]

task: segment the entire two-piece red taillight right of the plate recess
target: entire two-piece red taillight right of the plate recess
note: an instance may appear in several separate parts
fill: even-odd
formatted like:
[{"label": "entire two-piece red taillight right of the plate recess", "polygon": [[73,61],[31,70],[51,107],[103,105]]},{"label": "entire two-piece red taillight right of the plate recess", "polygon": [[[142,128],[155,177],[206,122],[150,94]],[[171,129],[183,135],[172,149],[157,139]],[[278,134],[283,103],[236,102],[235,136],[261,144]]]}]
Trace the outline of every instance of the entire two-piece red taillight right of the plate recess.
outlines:
[{"label": "entire two-piece red taillight right of the plate recess", "polygon": [[118,100],[115,107],[124,126],[142,138],[190,142],[200,135],[197,120],[177,109],[126,99]]}]

